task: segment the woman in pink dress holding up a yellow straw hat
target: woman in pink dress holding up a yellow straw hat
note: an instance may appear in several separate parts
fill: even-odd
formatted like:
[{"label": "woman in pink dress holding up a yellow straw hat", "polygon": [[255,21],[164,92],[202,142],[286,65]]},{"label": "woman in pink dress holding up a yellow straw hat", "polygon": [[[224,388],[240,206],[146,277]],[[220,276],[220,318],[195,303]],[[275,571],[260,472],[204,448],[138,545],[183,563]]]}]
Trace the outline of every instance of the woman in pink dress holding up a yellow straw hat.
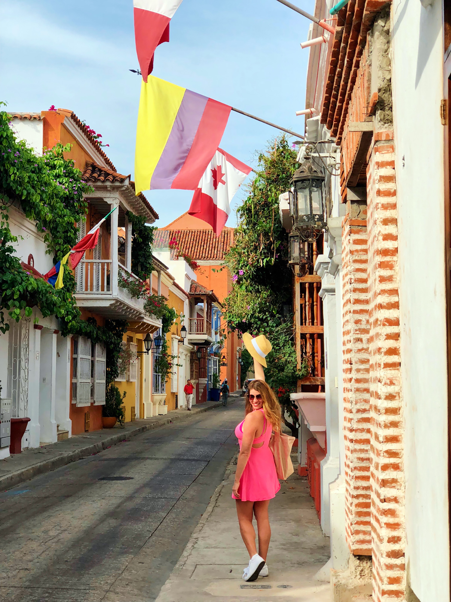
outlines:
[{"label": "woman in pink dress holding up a yellow straw hat", "polygon": [[[246,332],[243,343],[254,358],[256,379],[251,380],[245,396],[245,418],[235,429],[240,452],[236,465],[232,497],[236,500],[239,530],[249,553],[249,564],[244,569],[244,581],[255,581],[259,575],[268,577],[269,500],[280,489],[274,456],[269,449],[272,431],[281,430],[280,403],[274,391],[265,382],[263,366],[271,343],[264,335],[252,338]],[[257,553],[253,517],[257,520],[259,550]]]}]

